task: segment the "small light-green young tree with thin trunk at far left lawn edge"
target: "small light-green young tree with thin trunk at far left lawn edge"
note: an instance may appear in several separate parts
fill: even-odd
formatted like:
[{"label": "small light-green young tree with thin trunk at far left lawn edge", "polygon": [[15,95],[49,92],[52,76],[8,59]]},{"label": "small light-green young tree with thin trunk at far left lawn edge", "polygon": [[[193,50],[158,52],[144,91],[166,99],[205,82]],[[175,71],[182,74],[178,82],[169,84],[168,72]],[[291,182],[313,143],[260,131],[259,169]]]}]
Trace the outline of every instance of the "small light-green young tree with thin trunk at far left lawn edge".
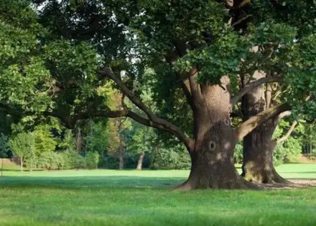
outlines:
[{"label": "small light-green young tree with thin trunk at far left lawn edge", "polygon": [[35,153],[34,135],[31,133],[21,133],[10,139],[10,148],[13,153],[19,157],[21,171],[26,158],[32,158]]}]

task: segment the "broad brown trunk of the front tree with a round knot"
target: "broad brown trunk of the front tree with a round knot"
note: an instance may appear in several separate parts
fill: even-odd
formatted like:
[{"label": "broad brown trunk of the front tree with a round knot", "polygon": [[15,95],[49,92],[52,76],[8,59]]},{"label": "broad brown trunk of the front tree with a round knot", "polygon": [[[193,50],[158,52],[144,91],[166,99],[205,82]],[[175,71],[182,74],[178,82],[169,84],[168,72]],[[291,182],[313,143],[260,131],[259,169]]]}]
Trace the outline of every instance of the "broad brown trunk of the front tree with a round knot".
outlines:
[{"label": "broad brown trunk of the front tree with a round knot", "polygon": [[193,109],[196,145],[189,150],[190,176],[177,190],[258,187],[242,179],[234,166],[237,133],[231,127],[230,92],[225,87],[227,83],[222,81],[222,87],[201,86],[197,93],[192,90],[197,103]]}]

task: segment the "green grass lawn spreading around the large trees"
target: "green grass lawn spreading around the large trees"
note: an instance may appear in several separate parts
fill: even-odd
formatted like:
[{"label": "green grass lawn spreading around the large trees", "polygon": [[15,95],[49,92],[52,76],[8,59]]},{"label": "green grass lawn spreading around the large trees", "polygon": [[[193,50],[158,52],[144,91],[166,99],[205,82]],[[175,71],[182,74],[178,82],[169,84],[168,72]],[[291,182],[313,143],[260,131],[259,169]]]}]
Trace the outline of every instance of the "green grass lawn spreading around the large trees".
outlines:
[{"label": "green grass lawn spreading around the large trees", "polygon": [[[316,188],[170,192],[188,171],[4,171],[0,226],[313,226]],[[316,179],[316,164],[288,164]]]}]

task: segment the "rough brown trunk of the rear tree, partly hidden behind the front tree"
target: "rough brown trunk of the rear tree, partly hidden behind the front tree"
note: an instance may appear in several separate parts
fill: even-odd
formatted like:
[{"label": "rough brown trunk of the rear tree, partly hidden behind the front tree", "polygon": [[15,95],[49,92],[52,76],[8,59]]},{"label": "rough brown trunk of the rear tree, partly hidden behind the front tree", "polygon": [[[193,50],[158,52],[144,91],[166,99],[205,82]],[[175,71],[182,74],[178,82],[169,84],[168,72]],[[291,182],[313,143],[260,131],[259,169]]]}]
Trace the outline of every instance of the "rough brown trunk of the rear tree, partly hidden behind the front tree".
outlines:
[{"label": "rough brown trunk of the rear tree, partly hidden behind the front tree", "polygon": [[[260,79],[264,76],[264,74],[257,72],[254,75],[254,79]],[[268,93],[265,93],[264,86],[248,92],[242,98],[243,121],[264,111],[270,107],[270,103],[271,91],[268,90]],[[272,140],[272,136],[277,124],[278,117],[276,116],[244,137],[241,176],[247,181],[258,183],[287,182],[276,173],[273,165],[273,151],[276,147],[276,142]]]}]

